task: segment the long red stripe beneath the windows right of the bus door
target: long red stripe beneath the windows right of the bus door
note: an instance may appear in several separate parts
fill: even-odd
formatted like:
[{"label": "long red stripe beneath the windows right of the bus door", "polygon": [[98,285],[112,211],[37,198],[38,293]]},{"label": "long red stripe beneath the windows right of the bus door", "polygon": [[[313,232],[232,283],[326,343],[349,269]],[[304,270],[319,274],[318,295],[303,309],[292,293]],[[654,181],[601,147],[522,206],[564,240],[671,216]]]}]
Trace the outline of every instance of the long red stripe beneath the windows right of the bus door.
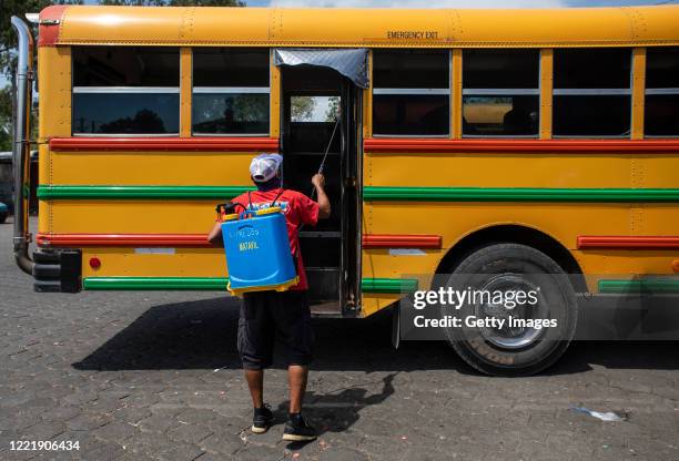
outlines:
[{"label": "long red stripe beneath the windows right of the bus door", "polygon": [[582,152],[653,152],[679,153],[676,140],[433,140],[433,139],[367,139],[367,153],[582,153]]}]

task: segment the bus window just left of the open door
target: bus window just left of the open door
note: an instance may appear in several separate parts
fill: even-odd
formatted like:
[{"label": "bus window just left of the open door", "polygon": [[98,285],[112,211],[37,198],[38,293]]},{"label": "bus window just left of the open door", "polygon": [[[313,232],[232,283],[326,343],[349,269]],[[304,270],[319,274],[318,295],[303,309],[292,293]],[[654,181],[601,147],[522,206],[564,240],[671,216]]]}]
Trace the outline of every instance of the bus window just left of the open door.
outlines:
[{"label": "bus window just left of the open door", "polygon": [[268,134],[268,49],[193,49],[193,134]]}]

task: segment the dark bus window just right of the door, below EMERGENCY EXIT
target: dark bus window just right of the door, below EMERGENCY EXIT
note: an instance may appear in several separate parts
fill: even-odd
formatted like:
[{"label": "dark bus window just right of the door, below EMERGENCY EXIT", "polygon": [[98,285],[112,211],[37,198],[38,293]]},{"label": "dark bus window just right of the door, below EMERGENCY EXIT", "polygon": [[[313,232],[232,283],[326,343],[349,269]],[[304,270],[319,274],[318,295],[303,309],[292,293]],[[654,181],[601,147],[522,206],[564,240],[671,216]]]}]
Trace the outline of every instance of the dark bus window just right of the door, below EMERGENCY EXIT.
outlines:
[{"label": "dark bus window just right of the door, below EMERGENCY EXIT", "polygon": [[373,51],[373,134],[447,136],[449,62],[447,50]]}]

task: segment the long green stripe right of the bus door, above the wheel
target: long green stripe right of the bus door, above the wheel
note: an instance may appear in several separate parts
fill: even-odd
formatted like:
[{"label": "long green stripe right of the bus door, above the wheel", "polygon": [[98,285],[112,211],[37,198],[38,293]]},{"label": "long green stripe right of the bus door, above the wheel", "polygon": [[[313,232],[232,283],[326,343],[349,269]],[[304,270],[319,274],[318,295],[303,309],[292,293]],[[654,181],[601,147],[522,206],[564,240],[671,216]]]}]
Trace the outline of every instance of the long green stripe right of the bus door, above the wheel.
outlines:
[{"label": "long green stripe right of the bus door, above the wheel", "polygon": [[366,202],[679,202],[679,188],[376,187]]}]

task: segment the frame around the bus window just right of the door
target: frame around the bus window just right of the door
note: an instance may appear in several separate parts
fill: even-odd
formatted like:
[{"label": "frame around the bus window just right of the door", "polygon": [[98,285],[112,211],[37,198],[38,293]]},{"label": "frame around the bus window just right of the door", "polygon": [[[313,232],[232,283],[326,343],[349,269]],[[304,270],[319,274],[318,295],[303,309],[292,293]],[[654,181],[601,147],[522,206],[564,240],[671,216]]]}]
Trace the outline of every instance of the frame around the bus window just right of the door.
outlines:
[{"label": "frame around the bus window just right of the door", "polygon": [[[382,50],[382,49],[381,49]],[[397,49],[402,51],[413,51],[419,50],[417,48],[402,48]],[[425,49],[425,50],[440,50],[440,49]],[[374,51],[375,49],[369,50],[371,53],[371,63],[374,68]],[[374,80],[371,82],[371,98],[369,98],[369,116],[371,116],[371,135],[372,137],[381,137],[381,139],[430,139],[430,140],[449,140],[453,137],[452,130],[452,121],[453,121],[453,50],[445,49],[447,59],[446,65],[448,66],[448,88],[376,88]],[[444,93],[445,92],[445,93]],[[447,120],[447,134],[377,134],[375,133],[375,95],[432,95],[432,96],[443,96],[444,94],[448,98],[448,120]]]}]

